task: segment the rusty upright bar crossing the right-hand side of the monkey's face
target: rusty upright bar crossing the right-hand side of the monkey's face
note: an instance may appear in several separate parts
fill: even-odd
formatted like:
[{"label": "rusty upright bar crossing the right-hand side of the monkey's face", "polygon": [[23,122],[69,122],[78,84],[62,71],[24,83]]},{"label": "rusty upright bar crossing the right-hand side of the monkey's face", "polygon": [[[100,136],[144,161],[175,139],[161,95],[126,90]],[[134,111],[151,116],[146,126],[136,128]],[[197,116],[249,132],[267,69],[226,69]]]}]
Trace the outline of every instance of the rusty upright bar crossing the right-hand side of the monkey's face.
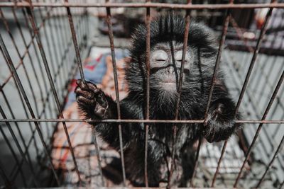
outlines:
[{"label": "rusty upright bar crossing the right-hand side of the monkey's face", "polygon": [[[187,0],[187,4],[191,4],[191,0]],[[171,21],[173,22],[173,18],[171,18]],[[173,27],[173,26],[171,26]],[[171,28],[173,30],[173,28]],[[185,69],[185,54],[187,52],[187,41],[188,41],[188,35],[189,35],[189,30],[190,30],[190,10],[186,10],[186,15],[185,15],[185,34],[183,36],[183,44],[182,44],[182,63],[180,65],[180,77],[178,80],[178,100],[177,103],[175,104],[175,120],[178,120],[178,111],[180,109],[180,96],[182,93],[182,80],[183,80],[183,72]],[[173,46],[173,45],[172,45]],[[173,53],[173,52],[172,52]],[[174,57],[174,56],[172,56]],[[173,59],[174,61],[174,59]],[[173,62],[174,64],[174,62]],[[177,136],[177,125],[173,126],[173,146],[172,146],[172,161],[170,161],[170,176],[168,178],[168,186],[167,188],[171,188],[170,182],[171,178],[173,176],[173,171],[175,167],[175,142],[176,142],[176,136]]]}]

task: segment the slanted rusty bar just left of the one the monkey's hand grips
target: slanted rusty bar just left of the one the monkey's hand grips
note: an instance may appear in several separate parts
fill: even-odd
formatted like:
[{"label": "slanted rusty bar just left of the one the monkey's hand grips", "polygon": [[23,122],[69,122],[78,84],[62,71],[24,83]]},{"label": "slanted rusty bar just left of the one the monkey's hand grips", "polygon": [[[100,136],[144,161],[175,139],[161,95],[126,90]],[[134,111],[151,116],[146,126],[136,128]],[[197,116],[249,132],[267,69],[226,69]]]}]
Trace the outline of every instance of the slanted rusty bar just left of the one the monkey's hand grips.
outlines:
[{"label": "slanted rusty bar just left of the one the monkey's hand grips", "polygon": [[[51,89],[53,91],[53,96],[55,98],[55,103],[57,105],[57,108],[58,108],[58,111],[59,111],[59,115],[60,115],[60,118],[64,119],[64,116],[62,114],[62,109],[61,109],[61,105],[60,105],[60,101],[59,101],[59,98],[58,98],[58,93],[55,89],[55,85],[53,83],[53,78],[50,74],[50,69],[49,69],[49,66],[48,66],[48,61],[46,59],[46,56],[45,56],[45,52],[43,50],[43,45],[40,41],[40,35],[39,35],[39,31],[38,31],[38,28],[36,27],[35,25],[35,20],[34,20],[34,17],[33,17],[33,4],[32,4],[32,1],[31,0],[28,0],[28,3],[30,4],[30,7],[27,8],[27,11],[28,11],[28,17],[31,21],[31,25],[32,25],[32,28],[33,28],[33,31],[35,33],[35,39],[36,39],[36,42],[38,43],[38,48],[40,50],[40,55],[43,59],[43,64],[45,66],[45,71],[46,71],[46,74],[48,74],[48,80],[50,82],[50,86],[51,86]],[[64,131],[65,131],[65,134],[66,134],[66,138],[67,138],[67,142],[68,142],[68,146],[70,148],[70,152],[71,152],[71,155],[72,155],[72,160],[73,160],[73,163],[75,165],[75,171],[77,173],[77,176],[78,176],[78,179],[79,179],[79,184],[81,184],[81,177],[80,177],[80,172],[79,172],[79,169],[78,169],[78,166],[77,166],[77,161],[75,159],[75,154],[74,154],[74,149],[72,147],[72,144],[71,144],[71,140],[70,140],[70,137],[69,137],[69,134],[68,134],[68,130],[67,130],[67,126],[66,126],[66,123],[65,122],[62,122],[62,125],[63,125],[63,128],[64,128]]]}]

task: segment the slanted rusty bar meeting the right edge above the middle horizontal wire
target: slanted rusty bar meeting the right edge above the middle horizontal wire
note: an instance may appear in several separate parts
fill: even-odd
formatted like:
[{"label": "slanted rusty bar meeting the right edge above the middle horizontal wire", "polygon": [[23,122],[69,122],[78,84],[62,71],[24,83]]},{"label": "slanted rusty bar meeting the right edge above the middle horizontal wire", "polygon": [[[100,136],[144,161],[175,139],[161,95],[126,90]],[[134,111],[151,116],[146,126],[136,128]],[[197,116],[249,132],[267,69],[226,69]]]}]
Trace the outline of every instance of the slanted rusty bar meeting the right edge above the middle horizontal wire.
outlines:
[{"label": "slanted rusty bar meeting the right edge above the middle horizontal wire", "polygon": [[[274,99],[275,99],[275,97],[276,97],[276,95],[277,95],[277,93],[278,93],[278,91],[279,91],[279,88],[280,88],[280,86],[281,86],[283,80],[284,80],[284,71],[283,71],[283,73],[282,73],[282,75],[281,75],[281,77],[280,77],[280,79],[279,79],[279,81],[278,81],[278,84],[277,84],[276,87],[275,87],[275,90],[273,91],[273,95],[271,96],[271,100],[269,101],[269,103],[268,103],[268,105],[267,105],[267,107],[266,107],[266,110],[265,110],[265,112],[263,113],[263,117],[261,118],[261,120],[265,120],[265,119],[266,119],[266,116],[268,115],[268,112],[269,112],[269,110],[270,110],[270,108],[271,108],[271,105],[272,105],[272,103],[273,103],[273,101],[274,101]],[[241,169],[240,169],[240,171],[239,171],[239,174],[238,174],[238,176],[237,176],[237,178],[236,178],[236,181],[235,181],[235,183],[234,183],[234,188],[236,188],[236,186],[238,185],[239,178],[241,178],[241,172],[242,172],[243,169],[244,169],[244,166],[245,166],[245,164],[246,164],[246,161],[249,159],[249,155],[251,154],[251,150],[252,150],[252,148],[253,148],[253,145],[256,143],[256,139],[257,139],[257,137],[258,137],[259,132],[261,132],[262,125],[263,125],[263,123],[261,123],[260,125],[258,125],[258,129],[256,130],[256,134],[255,134],[254,137],[253,137],[253,141],[251,142],[251,145],[250,145],[248,151],[246,151],[246,159],[244,160],[244,163],[243,163],[243,165],[241,166]]]}]

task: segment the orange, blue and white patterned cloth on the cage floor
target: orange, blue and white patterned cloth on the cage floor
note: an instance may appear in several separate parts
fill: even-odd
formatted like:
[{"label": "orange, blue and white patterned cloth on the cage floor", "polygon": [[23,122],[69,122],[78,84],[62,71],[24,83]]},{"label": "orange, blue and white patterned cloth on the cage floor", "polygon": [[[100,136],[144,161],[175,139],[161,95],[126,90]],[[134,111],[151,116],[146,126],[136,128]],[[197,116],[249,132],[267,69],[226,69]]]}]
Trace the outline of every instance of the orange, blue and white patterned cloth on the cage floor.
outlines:
[{"label": "orange, blue and white patterned cloth on the cage floor", "polygon": [[[114,75],[112,68],[112,59],[109,48],[92,49],[91,57],[88,57],[84,62],[84,76],[87,81],[97,84],[102,88],[107,95],[115,99],[114,90]],[[124,82],[124,72],[126,62],[129,61],[128,52],[126,50],[116,49],[116,67],[119,83],[119,98],[123,99],[127,95],[127,85]],[[80,79],[80,74],[75,76],[70,87],[70,93],[67,98],[67,105],[63,111],[66,119],[82,118],[78,112],[76,103],[76,80]],[[97,151],[94,147],[94,136],[92,134],[91,126],[85,122],[66,122],[68,134],[75,151],[77,165],[80,171],[82,183],[85,186],[102,186],[102,179],[99,175]],[[114,159],[119,159],[119,154],[110,149],[107,144],[104,144],[99,137],[97,137],[99,147],[101,149],[102,166],[104,172],[114,174],[115,170],[109,170],[107,164],[111,164]],[[77,173],[75,172],[72,156],[67,143],[65,131],[62,123],[58,125],[58,131],[54,134],[53,151],[53,164],[55,168],[61,170],[63,173],[62,186],[74,186],[78,181]],[[111,176],[115,177],[115,176]],[[121,180],[120,173],[116,173],[117,179]],[[113,181],[104,179],[107,186],[113,185]]]}]

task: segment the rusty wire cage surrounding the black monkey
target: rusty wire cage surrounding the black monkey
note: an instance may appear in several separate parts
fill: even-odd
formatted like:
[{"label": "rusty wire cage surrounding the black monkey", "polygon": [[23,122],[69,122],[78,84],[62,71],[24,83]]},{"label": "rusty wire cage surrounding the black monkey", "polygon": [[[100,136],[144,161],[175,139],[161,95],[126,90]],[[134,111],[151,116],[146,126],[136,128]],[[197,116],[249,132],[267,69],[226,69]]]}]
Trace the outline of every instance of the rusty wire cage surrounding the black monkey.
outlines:
[{"label": "rusty wire cage surrounding the black monkey", "polygon": [[[1,1],[1,188],[133,186],[123,150],[109,148],[89,125],[94,120],[78,114],[75,81],[92,81],[114,99],[124,98],[129,31],[138,23],[151,29],[151,19],[170,10],[182,13],[187,23],[197,18],[214,30],[215,69],[226,71],[236,109],[244,115],[236,121],[242,130],[228,140],[209,144],[200,138],[187,187],[282,188],[283,8],[274,0]],[[212,87],[214,82],[213,74]],[[119,115],[103,121],[168,120]],[[147,173],[146,168],[145,178],[151,177]],[[160,187],[170,185],[165,181]]]}]

